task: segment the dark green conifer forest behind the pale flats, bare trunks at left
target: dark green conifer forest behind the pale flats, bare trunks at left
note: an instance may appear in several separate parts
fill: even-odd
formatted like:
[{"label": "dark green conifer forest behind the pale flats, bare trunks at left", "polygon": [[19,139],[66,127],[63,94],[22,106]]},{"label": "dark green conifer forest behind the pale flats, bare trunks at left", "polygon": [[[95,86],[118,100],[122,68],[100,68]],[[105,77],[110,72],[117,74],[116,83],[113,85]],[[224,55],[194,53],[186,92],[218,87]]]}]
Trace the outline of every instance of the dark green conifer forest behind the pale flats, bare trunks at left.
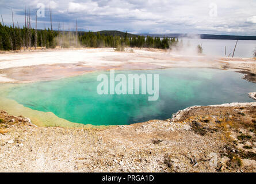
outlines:
[{"label": "dark green conifer forest behind the pale flats, bare trunks at left", "polygon": [[69,48],[69,47],[113,47],[117,50],[123,50],[125,47],[146,47],[168,49],[178,43],[175,38],[144,37],[133,36],[112,36],[94,32],[80,32],[77,30],[36,30],[28,26],[23,28],[17,26],[6,26],[0,23],[0,50],[20,50],[41,48]]}]

